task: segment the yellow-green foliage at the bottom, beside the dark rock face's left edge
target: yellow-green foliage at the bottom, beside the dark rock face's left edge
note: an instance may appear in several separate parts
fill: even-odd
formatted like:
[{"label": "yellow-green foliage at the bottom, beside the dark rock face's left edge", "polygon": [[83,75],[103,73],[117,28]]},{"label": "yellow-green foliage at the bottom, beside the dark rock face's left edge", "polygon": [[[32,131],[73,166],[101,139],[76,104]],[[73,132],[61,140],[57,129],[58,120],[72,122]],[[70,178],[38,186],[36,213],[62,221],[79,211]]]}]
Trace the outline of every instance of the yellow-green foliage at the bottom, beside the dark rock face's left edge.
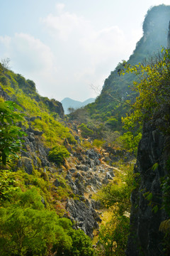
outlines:
[{"label": "yellow-green foliage at the bottom, beside the dark rock face's left edge", "polygon": [[109,183],[98,193],[103,206],[113,210],[111,221],[102,225],[99,232],[101,255],[125,255],[129,235],[130,195],[134,188],[132,169],[127,169],[124,175],[114,178],[113,183]]}]

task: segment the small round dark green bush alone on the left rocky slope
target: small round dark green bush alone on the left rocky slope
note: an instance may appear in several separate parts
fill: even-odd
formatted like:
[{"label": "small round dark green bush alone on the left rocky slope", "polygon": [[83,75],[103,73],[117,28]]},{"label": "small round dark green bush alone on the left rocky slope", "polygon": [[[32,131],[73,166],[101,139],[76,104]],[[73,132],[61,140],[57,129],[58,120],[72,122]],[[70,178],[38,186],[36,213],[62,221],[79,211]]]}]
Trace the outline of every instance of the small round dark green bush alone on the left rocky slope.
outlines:
[{"label": "small round dark green bush alone on the left rocky slope", "polygon": [[64,158],[69,157],[69,151],[64,146],[57,145],[49,152],[48,157],[50,161],[60,166],[64,163]]}]

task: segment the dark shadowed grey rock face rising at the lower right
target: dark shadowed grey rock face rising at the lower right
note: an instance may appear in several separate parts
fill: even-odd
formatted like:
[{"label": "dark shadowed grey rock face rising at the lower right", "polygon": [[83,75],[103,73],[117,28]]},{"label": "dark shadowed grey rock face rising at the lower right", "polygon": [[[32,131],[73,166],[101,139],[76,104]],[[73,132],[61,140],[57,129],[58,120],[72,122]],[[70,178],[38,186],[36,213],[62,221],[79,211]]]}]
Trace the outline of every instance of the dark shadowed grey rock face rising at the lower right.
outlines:
[{"label": "dark shadowed grey rock face rising at the lower right", "polygon": [[[160,223],[167,218],[162,206],[161,178],[167,175],[166,161],[169,156],[167,142],[169,136],[162,132],[163,127],[169,126],[165,121],[165,114],[169,109],[159,113],[162,120],[161,127],[157,127],[157,120],[147,122],[143,129],[142,139],[138,146],[137,164],[134,173],[140,175],[138,187],[132,192],[132,209],[130,214],[130,237],[128,240],[127,256],[159,256],[162,252],[162,233],[159,232]],[[157,163],[157,169],[152,166]],[[154,213],[145,193],[152,193],[152,202],[159,210]]]}]

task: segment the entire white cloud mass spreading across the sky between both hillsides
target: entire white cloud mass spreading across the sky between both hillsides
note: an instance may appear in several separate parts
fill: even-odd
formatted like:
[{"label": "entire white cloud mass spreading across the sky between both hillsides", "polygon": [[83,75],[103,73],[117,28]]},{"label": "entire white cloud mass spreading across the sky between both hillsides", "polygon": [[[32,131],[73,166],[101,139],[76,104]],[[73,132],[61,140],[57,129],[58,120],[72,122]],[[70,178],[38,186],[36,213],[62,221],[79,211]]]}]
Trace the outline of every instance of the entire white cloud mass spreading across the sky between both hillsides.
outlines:
[{"label": "entire white cloud mass spreading across the sky between both hillsides", "polygon": [[102,87],[138,39],[131,32],[128,41],[118,26],[97,28],[88,19],[65,11],[64,4],[56,4],[55,14],[40,18],[40,25],[43,42],[28,33],[0,37],[0,54],[11,58],[14,72],[34,80],[41,95],[57,100],[94,97],[90,85]]}]

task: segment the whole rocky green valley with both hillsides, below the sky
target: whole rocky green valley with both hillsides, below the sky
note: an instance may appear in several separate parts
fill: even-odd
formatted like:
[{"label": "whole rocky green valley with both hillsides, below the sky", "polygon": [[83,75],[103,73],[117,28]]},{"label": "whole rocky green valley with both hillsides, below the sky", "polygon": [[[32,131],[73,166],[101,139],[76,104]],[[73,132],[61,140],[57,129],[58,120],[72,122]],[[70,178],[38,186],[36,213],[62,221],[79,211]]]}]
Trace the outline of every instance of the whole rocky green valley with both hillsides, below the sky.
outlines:
[{"label": "whole rocky green valley with both hillsides, below the sky", "polygon": [[69,114],[0,63],[2,256],[169,255],[169,17]]}]

